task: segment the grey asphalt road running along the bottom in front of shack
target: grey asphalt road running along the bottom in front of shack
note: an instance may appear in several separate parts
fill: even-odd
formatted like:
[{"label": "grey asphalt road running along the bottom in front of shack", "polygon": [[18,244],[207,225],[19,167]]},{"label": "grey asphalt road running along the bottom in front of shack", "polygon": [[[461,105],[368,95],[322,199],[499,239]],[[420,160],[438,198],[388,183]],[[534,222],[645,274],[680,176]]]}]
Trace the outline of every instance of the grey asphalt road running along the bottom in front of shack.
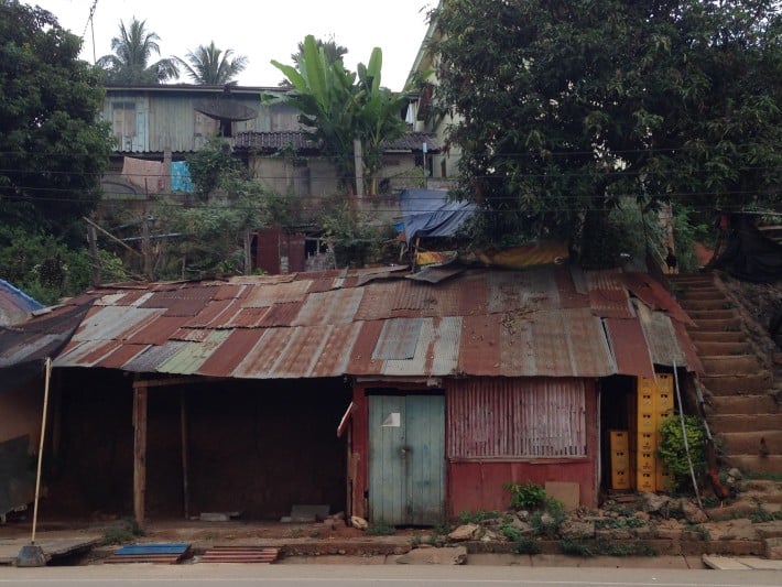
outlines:
[{"label": "grey asphalt road running along the bottom in front of shack", "polygon": [[0,587],[88,585],[113,587],[248,586],[263,587],[741,587],[782,585],[779,570],[704,570],[649,568],[544,568],[406,565],[95,565],[82,567],[0,568]]}]

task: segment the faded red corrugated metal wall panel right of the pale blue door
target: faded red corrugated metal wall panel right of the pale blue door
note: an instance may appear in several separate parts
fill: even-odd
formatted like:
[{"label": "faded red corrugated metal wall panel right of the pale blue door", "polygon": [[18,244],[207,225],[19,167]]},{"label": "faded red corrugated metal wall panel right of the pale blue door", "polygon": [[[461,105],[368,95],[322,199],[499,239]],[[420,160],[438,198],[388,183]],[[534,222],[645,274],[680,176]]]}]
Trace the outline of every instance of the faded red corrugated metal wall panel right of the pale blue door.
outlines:
[{"label": "faded red corrugated metal wall panel right of the pale blue door", "polygon": [[579,379],[471,379],[447,390],[448,458],[586,456]]}]

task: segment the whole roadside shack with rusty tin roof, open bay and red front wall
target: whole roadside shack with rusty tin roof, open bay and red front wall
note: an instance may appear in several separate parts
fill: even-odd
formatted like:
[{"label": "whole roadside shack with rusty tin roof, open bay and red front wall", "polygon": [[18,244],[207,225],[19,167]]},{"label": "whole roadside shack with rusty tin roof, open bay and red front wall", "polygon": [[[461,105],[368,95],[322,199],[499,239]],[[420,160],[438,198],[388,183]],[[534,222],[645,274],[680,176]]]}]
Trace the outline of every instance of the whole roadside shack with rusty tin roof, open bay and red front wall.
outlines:
[{"label": "whole roadside shack with rusty tin roof, open bay and red front wall", "polygon": [[69,514],[328,503],[425,525],[525,480],[594,506],[636,378],[699,370],[686,315],[621,271],[337,270],[72,304],[45,506]]}]

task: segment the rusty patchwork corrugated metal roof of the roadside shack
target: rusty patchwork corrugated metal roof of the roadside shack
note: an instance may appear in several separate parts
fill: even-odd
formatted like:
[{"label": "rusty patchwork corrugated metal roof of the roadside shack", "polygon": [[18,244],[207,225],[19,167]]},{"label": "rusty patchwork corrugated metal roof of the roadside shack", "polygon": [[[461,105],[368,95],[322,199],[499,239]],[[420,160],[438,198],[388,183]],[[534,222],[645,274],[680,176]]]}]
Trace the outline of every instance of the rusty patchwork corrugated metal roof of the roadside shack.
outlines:
[{"label": "rusty patchwork corrugated metal roof of the roadside shack", "polygon": [[[404,278],[376,269],[152,284],[149,296],[133,292],[133,305],[127,292],[105,287],[55,366],[250,379],[648,377],[652,363],[698,368],[684,329],[631,298],[619,271]],[[643,291],[672,307],[663,289]]]}]

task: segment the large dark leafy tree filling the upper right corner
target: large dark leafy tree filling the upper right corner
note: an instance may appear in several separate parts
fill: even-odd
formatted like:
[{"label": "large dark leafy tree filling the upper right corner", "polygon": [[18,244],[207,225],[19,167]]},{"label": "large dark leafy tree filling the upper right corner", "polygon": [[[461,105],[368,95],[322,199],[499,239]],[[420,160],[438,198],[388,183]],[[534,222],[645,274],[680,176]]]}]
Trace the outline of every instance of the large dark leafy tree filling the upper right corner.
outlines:
[{"label": "large dark leafy tree filling the upper right corner", "polygon": [[626,196],[780,202],[779,2],[446,0],[432,18],[454,192],[485,240],[583,231],[586,253]]}]

